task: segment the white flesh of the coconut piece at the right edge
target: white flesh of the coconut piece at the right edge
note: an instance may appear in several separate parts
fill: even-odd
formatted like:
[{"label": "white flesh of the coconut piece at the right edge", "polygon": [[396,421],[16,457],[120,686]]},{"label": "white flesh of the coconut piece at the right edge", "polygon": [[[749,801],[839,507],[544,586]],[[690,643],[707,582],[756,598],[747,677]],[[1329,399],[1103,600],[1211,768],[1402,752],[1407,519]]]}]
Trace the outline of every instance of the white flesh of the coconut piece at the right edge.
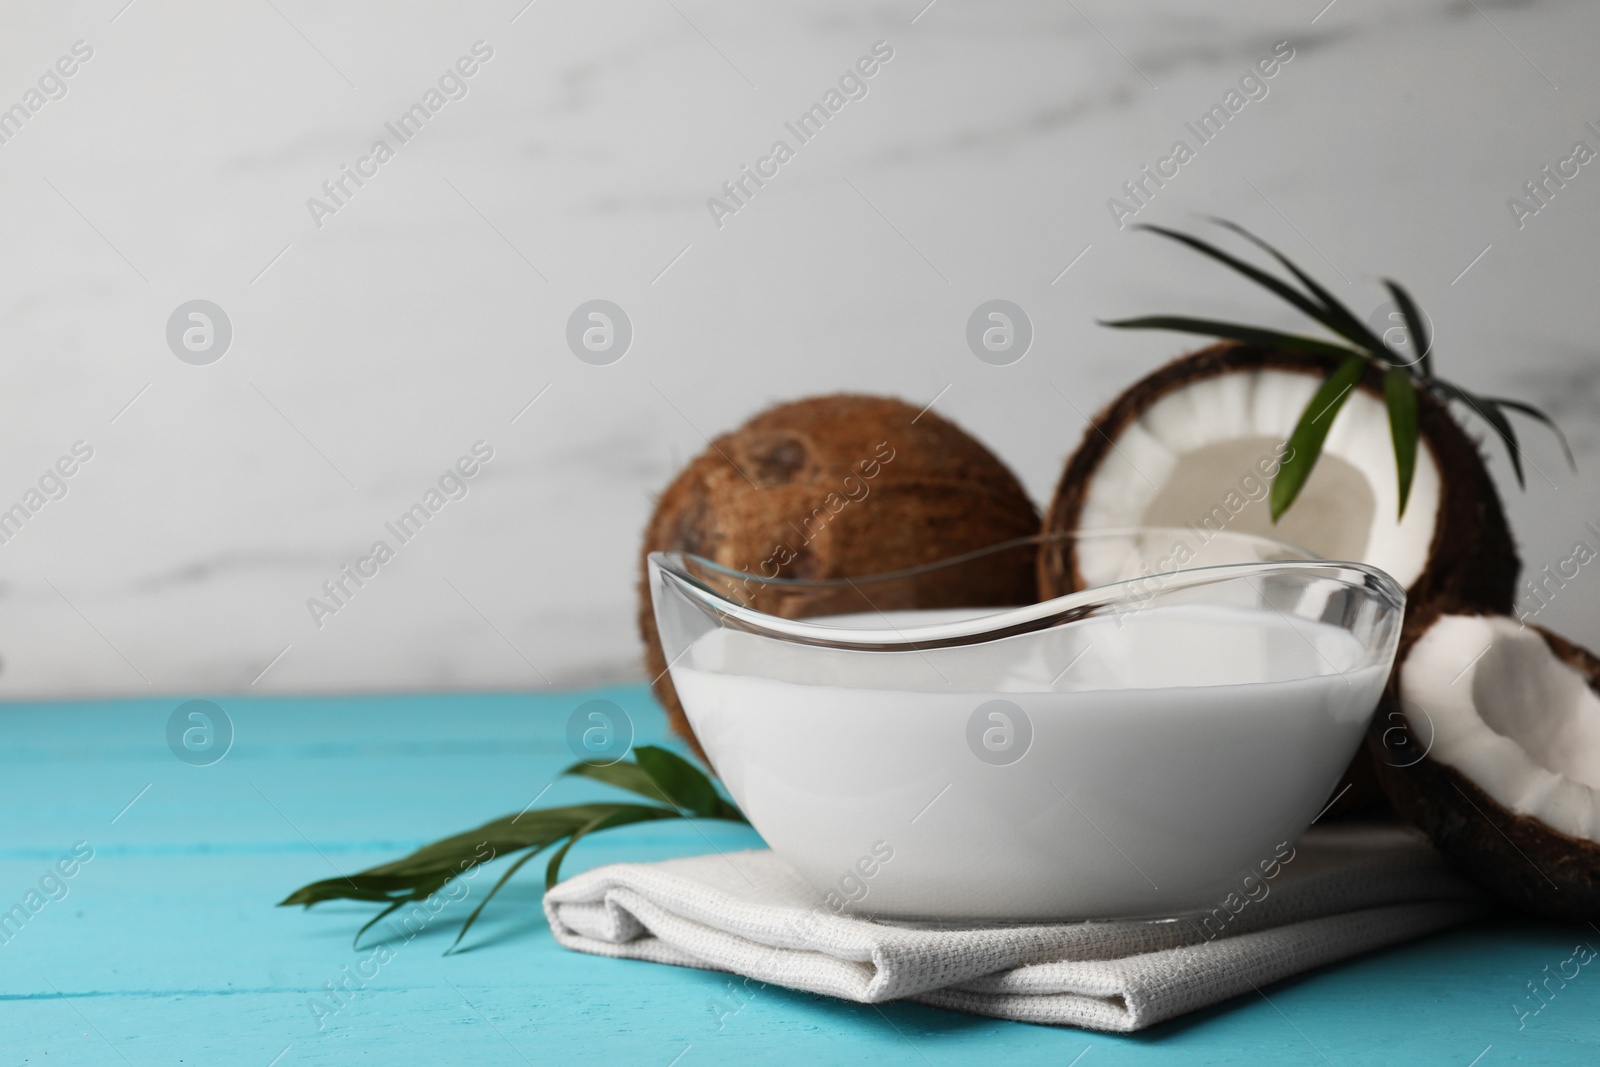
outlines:
[{"label": "white flesh of the coconut piece at the right edge", "polygon": [[1501,808],[1600,843],[1600,696],[1536,630],[1440,617],[1402,665],[1400,707],[1429,758]]}]

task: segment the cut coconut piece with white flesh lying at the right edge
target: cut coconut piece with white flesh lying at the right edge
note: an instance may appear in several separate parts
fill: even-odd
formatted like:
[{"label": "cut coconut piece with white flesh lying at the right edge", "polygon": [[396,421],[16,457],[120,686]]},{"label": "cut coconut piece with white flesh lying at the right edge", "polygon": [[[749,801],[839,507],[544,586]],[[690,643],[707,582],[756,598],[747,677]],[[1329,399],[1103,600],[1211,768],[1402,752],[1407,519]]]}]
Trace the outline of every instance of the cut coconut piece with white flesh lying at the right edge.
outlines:
[{"label": "cut coconut piece with white flesh lying at the right edge", "polygon": [[1501,614],[1440,614],[1368,737],[1395,808],[1522,910],[1600,909],[1600,659]]}]

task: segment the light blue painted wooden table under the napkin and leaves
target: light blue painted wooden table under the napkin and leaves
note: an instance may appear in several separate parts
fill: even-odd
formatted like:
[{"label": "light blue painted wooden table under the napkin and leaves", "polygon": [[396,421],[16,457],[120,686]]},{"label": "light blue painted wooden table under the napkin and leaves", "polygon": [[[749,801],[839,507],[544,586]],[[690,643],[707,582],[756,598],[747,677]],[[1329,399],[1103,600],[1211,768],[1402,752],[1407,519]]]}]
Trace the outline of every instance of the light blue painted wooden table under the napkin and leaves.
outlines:
[{"label": "light blue painted wooden table under the napkin and leaves", "polygon": [[[490,905],[469,952],[442,957],[469,907],[451,905],[318,1021],[312,998],[370,955],[350,934],[371,910],[274,904],[523,808],[571,761],[566,717],[597,696],[627,709],[640,742],[662,739],[643,686],[216,697],[235,741],[211,766],[168,749],[178,699],[0,709],[0,909],[27,912],[38,893],[37,913],[0,933],[0,1062],[1600,1062],[1600,968],[1522,1027],[1514,1011],[1536,1003],[1526,984],[1574,942],[1600,945],[1592,928],[1485,921],[1274,985],[1270,1001],[1106,1037],[779,989],[741,1003],[725,976],[563,952],[538,907],[534,864]],[[541,803],[605,792],[560,781]],[[704,851],[701,833],[717,848],[758,843],[738,827],[654,824],[581,845],[568,869]],[[74,846],[93,859],[74,865]]]}]

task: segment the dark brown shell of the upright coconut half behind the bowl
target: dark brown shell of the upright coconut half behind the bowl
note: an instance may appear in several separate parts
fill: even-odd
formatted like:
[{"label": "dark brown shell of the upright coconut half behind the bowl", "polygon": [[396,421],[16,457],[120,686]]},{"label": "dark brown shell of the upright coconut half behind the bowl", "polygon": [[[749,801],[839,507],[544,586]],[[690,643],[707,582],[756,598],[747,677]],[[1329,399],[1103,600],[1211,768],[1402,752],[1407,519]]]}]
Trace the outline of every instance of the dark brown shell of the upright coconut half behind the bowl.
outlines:
[{"label": "dark brown shell of the upright coconut half behind the bowl", "polygon": [[[1206,378],[1254,370],[1283,370],[1326,378],[1338,360],[1222,342],[1182,355],[1139,379],[1090,421],[1045,514],[1045,533],[1074,531],[1088,494],[1090,477],[1112,451],[1112,442],[1165,395]],[[1382,370],[1370,366],[1358,389],[1382,398]],[[1299,414],[1299,413],[1294,413]],[[1406,590],[1406,616],[1429,605],[1451,601],[1486,611],[1510,611],[1522,561],[1501,509],[1499,494],[1477,443],[1450,410],[1418,390],[1421,446],[1432,451],[1440,470],[1438,515],[1429,563]],[[1038,553],[1040,600],[1083,587],[1072,542],[1046,542]],[[1384,795],[1365,750],[1357,752],[1344,782],[1350,785],[1328,809],[1330,819],[1370,813]],[[1341,784],[1341,789],[1344,785]]]}]

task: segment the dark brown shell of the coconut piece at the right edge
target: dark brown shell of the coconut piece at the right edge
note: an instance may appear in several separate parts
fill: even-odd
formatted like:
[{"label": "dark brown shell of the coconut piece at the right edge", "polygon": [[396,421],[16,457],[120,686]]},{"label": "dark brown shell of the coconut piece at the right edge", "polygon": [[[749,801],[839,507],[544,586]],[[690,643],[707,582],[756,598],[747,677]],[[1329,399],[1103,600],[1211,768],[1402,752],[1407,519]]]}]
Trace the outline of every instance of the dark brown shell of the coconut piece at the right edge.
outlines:
[{"label": "dark brown shell of the coconut piece at the right edge", "polygon": [[[1408,766],[1386,758],[1384,734],[1402,728],[1416,737],[1400,710],[1405,656],[1440,614],[1470,614],[1464,605],[1437,605],[1408,625],[1389,689],[1366,734],[1378,781],[1395,809],[1432,838],[1445,859],[1504,904],[1544,918],[1589,921],[1600,913],[1600,845],[1574,838],[1531,816],[1507,811],[1453,766],[1422,757]],[[1600,693],[1600,657],[1530,624],[1563,664]]]}]

